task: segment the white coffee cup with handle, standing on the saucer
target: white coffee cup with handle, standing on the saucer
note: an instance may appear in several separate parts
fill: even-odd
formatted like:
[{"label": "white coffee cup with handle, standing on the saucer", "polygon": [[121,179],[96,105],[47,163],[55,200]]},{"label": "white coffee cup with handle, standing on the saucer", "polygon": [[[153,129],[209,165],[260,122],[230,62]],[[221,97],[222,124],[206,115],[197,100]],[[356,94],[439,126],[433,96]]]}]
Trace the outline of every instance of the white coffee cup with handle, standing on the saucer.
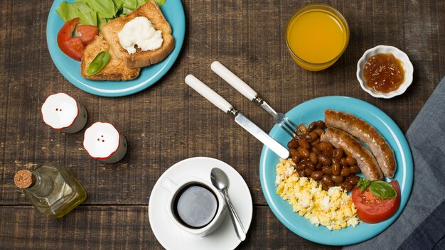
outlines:
[{"label": "white coffee cup with handle, standing on the saucer", "polygon": [[[191,177],[183,182],[179,183],[178,185],[174,183],[172,180],[165,178],[161,186],[170,192],[170,196],[168,197],[167,202],[167,212],[168,216],[171,218],[174,224],[178,226],[179,228],[183,229],[186,232],[189,232],[191,234],[198,235],[199,237],[204,237],[207,234],[210,234],[215,229],[217,229],[221,222],[223,222],[225,214],[227,212],[227,206],[225,204],[225,200],[223,195],[215,188],[211,183],[209,183],[207,180],[203,180],[202,178],[198,177]],[[211,195],[209,195],[208,192],[205,192],[205,190],[202,190],[204,188],[205,190],[209,191],[215,198],[215,201],[217,203],[217,207],[214,208],[212,205],[204,206],[204,205],[197,205],[196,203],[190,205],[191,207],[187,207],[189,210],[198,211],[200,210],[201,215],[203,214],[213,214],[213,211],[215,211],[214,216],[212,219],[210,217],[205,216],[206,219],[203,220],[203,223],[207,224],[194,224],[185,222],[185,220],[188,220],[188,218],[181,218],[181,211],[182,209],[179,209],[178,207],[183,207],[181,205],[181,199],[187,199],[187,197],[192,197],[193,195],[203,195],[202,199],[199,199],[198,202],[202,202],[203,200],[213,200]],[[202,190],[203,192],[195,192],[195,190]],[[187,201],[187,200],[186,200]],[[190,204],[188,202],[182,202],[183,204]],[[207,202],[210,203],[210,202]],[[198,207],[193,207],[198,206]],[[187,214],[186,212],[183,212],[183,214]],[[193,219],[193,218],[191,218]],[[190,222],[190,220],[188,220]]]}]

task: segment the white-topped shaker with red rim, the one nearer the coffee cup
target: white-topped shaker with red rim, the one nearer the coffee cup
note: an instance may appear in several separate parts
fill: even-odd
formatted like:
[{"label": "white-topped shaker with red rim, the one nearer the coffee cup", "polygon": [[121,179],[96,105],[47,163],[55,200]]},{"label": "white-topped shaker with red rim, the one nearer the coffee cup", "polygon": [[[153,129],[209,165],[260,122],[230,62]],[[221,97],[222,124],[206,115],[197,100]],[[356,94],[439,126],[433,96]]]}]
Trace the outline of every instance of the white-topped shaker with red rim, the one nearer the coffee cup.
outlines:
[{"label": "white-topped shaker with red rim, the one nearer the coffee cup", "polygon": [[112,124],[96,122],[85,130],[83,147],[104,163],[117,163],[127,153],[127,140]]}]

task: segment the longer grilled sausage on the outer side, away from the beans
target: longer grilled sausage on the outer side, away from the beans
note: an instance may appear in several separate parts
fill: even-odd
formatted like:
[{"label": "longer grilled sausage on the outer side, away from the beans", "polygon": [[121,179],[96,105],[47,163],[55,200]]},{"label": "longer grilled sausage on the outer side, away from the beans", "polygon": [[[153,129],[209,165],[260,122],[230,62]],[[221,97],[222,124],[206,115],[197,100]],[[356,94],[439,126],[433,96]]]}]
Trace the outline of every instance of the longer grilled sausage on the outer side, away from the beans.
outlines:
[{"label": "longer grilled sausage on the outer side, away from the beans", "polygon": [[327,126],[346,131],[368,145],[383,174],[387,178],[394,177],[397,167],[394,151],[377,129],[353,114],[330,109],[326,109],[325,120]]}]

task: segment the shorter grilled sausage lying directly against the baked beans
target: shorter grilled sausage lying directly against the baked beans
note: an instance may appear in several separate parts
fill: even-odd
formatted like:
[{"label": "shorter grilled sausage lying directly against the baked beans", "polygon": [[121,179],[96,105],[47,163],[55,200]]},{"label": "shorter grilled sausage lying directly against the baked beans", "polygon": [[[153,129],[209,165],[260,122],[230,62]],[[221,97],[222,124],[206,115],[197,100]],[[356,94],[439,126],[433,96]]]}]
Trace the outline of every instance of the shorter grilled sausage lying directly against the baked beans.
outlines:
[{"label": "shorter grilled sausage lying directly against the baked beans", "polygon": [[347,156],[355,158],[366,179],[381,180],[383,178],[382,170],[377,165],[371,151],[350,134],[328,127],[326,132],[321,135],[320,141],[330,142],[336,148],[342,148]]}]

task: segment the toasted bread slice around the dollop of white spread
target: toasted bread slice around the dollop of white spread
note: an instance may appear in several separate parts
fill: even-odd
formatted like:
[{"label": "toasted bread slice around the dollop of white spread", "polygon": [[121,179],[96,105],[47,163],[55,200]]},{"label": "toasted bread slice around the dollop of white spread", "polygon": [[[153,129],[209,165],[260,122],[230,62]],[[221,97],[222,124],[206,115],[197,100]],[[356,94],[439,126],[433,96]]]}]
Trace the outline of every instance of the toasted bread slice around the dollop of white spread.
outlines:
[{"label": "toasted bread slice around the dollop of white spread", "polygon": [[[129,54],[127,50],[122,48],[117,34],[122,31],[125,23],[132,21],[132,19],[138,16],[145,16],[151,21],[156,31],[162,32],[163,41],[161,48],[154,51],[142,51],[137,48],[136,53],[134,54]],[[101,32],[104,38],[107,39],[109,45],[111,45],[111,50],[113,50],[114,55],[124,60],[128,67],[146,67],[161,62],[161,60],[166,58],[167,55],[173,51],[173,48],[175,48],[175,40],[173,36],[171,36],[170,24],[163,16],[158,4],[153,0],[147,1],[127,16],[116,18],[105,24],[102,26]]]}]

